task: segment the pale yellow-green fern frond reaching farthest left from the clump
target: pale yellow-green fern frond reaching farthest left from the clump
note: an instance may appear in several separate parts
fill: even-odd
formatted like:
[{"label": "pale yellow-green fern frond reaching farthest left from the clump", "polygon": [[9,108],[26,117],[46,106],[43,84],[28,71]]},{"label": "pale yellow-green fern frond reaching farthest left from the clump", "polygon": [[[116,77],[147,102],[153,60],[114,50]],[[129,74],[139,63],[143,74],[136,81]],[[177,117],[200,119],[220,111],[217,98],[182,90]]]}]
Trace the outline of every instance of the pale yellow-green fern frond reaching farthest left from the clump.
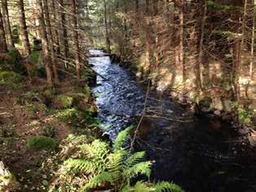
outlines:
[{"label": "pale yellow-green fern frond reaching farthest left from the clump", "polygon": [[99,172],[99,167],[92,162],[84,159],[68,159],[64,161],[64,165],[61,168],[63,174],[77,174],[77,173],[86,173],[86,174],[95,174]]}]

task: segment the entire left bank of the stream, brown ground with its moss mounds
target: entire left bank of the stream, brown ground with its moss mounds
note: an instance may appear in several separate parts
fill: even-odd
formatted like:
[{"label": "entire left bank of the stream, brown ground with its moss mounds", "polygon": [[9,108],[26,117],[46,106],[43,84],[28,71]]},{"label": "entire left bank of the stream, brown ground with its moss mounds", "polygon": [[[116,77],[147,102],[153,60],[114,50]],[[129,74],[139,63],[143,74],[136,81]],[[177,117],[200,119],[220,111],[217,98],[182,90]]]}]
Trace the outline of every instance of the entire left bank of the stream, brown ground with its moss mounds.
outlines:
[{"label": "entire left bank of the stream, brown ground with its moss mounds", "polygon": [[68,135],[86,135],[88,142],[101,136],[94,96],[88,82],[77,79],[63,79],[54,88],[38,77],[33,84],[24,76],[15,80],[6,75],[7,80],[8,85],[0,86],[1,187],[46,191]]}]

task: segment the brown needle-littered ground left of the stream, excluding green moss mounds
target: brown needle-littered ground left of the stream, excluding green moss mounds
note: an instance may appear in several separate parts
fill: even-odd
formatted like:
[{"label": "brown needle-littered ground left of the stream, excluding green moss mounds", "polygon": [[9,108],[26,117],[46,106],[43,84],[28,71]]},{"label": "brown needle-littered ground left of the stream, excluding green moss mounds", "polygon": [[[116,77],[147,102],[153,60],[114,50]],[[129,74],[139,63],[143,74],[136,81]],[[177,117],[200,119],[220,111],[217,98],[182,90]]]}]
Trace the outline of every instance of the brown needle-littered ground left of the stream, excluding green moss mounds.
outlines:
[{"label": "brown needle-littered ground left of the stream, excluding green moss mounds", "polygon": [[75,94],[79,86],[74,81],[64,81],[52,94],[46,88],[45,80],[37,78],[33,85],[29,81],[23,83],[22,89],[15,90],[0,86],[0,160],[18,181],[17,185],[11,186],[14,189],[7,186],[6,190],[44,191],[54,174],[46,162],[54,158],[58,148],[53,151],[31,149],[28,139],[51,137],[59,145],[68,134],[77,132],[69,124],[68,117],[65,117],[67,120],[56,118],[60,110],[74,104],[61,107],[61,101],[56,102],[56,97]]}]

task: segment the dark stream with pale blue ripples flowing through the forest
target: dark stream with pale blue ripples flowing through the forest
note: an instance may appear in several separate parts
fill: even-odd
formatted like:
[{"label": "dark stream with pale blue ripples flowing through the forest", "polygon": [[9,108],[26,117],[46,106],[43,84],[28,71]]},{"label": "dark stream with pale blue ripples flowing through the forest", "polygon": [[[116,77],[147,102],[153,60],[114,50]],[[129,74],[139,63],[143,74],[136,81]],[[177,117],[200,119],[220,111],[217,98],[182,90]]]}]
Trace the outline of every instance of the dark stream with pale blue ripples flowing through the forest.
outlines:
[{"label": "dark stream with pale blue ripples flowing through the forest", "polygon": [[[104,54],[90,50],[90,55]],[[89,59],[97,76],[93,90],[102,129],[113,140],[142,115],[146,89],[108,56]],[[193,116],[168,96],[148,92],[136,150],[154,162],[152,180],[174,181],[186,191],[256,191],[256,159],[245,137],[218,120]]]}]

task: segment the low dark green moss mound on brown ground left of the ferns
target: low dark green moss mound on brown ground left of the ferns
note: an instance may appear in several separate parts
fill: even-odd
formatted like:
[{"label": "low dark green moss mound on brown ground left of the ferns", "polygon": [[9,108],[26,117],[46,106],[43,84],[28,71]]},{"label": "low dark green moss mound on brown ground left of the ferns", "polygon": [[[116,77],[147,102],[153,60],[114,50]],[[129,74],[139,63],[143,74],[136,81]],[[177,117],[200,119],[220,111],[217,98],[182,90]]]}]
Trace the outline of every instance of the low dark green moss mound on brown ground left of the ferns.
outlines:
[{"label": "low dark green moss mound on brown ground left of the ferns", "polygon": [[27,145],[29,149],[33,150],[46,150],[46,151],[54,151],[57,144],[54,139],[51,137],[45,136],[35,136],[30,137],[27,140]]}]

